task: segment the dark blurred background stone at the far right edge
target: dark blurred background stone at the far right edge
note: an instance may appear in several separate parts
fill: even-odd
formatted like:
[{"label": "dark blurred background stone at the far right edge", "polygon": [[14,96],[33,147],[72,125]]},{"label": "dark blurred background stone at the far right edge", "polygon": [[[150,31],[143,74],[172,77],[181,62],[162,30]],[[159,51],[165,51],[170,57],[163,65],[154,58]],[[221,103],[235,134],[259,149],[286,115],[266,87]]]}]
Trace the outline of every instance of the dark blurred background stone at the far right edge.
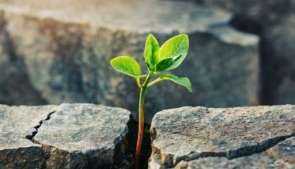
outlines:
[{"label": "dark blurred background stone at the far right edge", "polygon": [[[295,3],[294,3],[295,5]],[[263,32],[265,93],[269,104],[295,104],[295,12]]]}]

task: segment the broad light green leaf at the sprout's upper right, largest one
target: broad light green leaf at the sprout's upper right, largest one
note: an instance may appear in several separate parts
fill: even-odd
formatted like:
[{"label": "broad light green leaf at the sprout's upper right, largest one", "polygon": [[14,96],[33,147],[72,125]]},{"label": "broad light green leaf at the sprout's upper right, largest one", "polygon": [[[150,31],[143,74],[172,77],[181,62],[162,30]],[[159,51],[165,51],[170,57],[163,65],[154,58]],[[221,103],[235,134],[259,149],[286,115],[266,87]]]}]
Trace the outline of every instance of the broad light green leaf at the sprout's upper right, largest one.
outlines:
[{"label": "broad light green leaf at the sprout's upper right, largest one", "polygon": [[165,58],[173,58],[174,56],[180,56],[178,61],[175,61],[168,69],[177,68],[185,59],[188,54],[188,35],[178,35],[167,40],[159,49],[158,62],[163,61]]}]

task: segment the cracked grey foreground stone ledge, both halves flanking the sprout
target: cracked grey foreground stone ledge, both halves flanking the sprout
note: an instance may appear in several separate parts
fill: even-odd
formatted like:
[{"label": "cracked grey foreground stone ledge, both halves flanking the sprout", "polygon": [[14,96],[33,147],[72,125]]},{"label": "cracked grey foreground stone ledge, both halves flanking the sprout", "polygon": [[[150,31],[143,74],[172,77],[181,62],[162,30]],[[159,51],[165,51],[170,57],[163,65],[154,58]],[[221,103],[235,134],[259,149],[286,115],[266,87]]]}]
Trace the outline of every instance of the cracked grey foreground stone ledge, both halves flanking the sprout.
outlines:
[{"label": "cracked grey foreground stone ledge, both halves flanking the sprout", "polygon": [[[0,168],[132,168],[130,115],[94,104],[0,105]],[[152,121],[149,167],[294,168],[294,121],[292,105],[164,110]]]}]

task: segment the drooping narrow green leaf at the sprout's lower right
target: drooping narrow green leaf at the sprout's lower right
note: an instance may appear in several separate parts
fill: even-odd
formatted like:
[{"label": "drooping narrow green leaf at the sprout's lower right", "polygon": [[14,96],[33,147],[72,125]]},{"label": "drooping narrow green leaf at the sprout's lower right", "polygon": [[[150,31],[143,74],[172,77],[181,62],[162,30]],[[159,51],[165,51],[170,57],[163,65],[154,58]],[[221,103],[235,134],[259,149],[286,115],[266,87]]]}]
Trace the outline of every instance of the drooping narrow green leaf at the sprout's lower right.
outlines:
[{"label": "drooping narrow green leaf at the sprout's lower right", "polygon": [[147,87],[152,86],[152,84],[155,84],[162,80],[171,80],[172,82],[176,82],[177,84],[181,84],[182,86],[186,87],[190,92],[192,92],[192,85],[190,84],[190,80],[188,77],[177,77],[175,75],[166,74],[162,75],[154,82],[150,82],[150,84],[147,85]]}]

